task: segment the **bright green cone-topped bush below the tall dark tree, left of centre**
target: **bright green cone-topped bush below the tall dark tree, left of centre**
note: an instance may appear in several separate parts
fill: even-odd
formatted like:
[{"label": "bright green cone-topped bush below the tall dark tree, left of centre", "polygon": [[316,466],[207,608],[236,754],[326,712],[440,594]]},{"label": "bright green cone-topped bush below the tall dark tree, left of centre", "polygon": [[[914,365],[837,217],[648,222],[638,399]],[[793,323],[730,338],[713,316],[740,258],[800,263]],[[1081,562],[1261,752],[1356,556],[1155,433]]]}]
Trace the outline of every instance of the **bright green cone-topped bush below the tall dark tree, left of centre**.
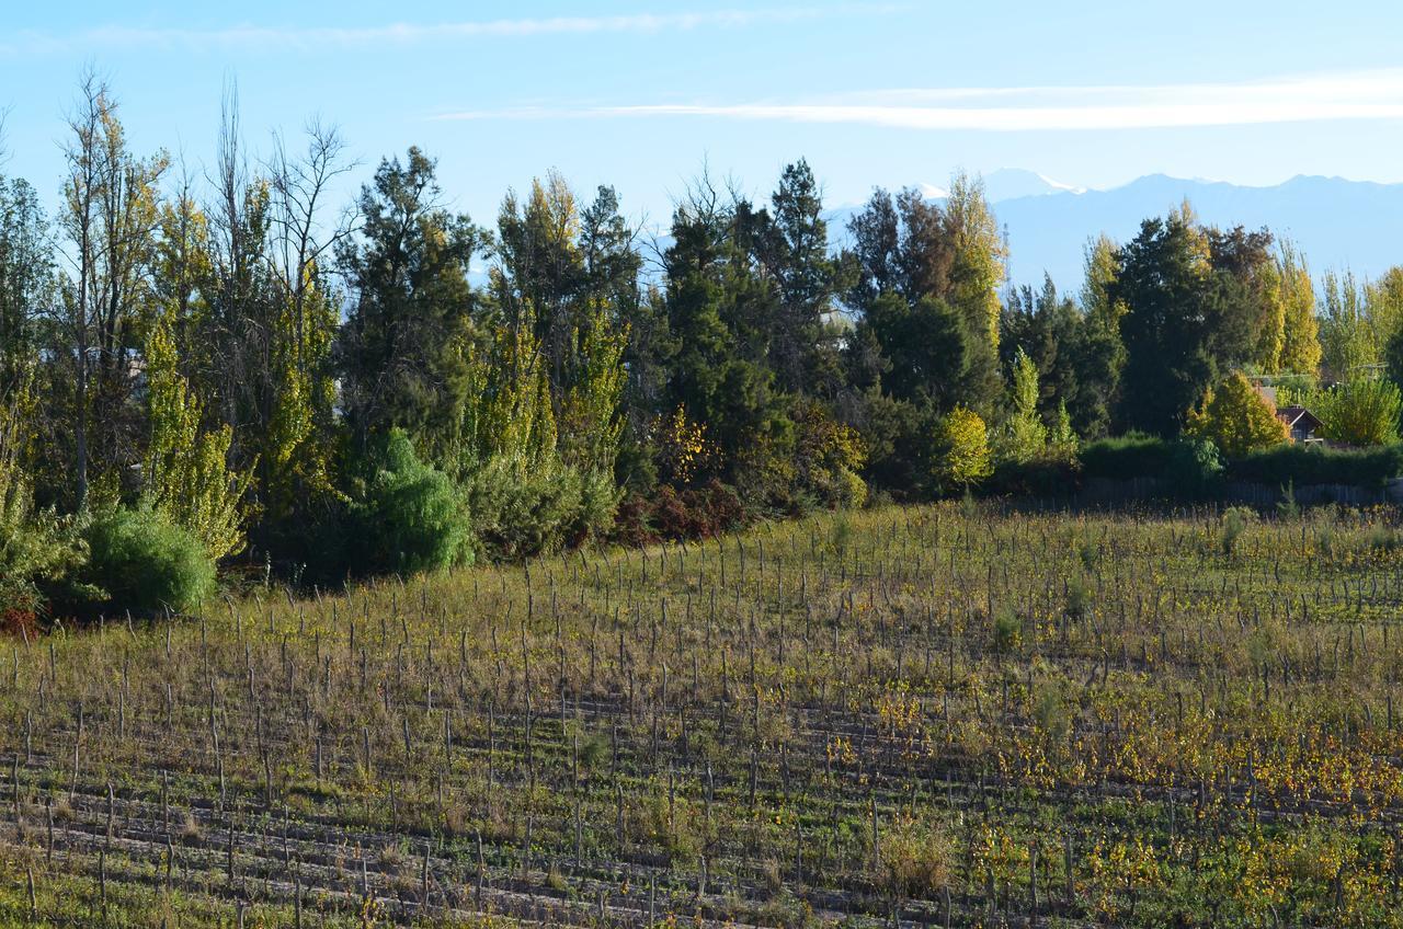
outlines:
[{"label": "bright green cone-topped bush below the tall dark tree, left of centre", "polygon": [[418,574],[471,559],[467,501],[448,474],[422,463],[400,431],[386,438],[375,464],[354,507],[356,571]]}]

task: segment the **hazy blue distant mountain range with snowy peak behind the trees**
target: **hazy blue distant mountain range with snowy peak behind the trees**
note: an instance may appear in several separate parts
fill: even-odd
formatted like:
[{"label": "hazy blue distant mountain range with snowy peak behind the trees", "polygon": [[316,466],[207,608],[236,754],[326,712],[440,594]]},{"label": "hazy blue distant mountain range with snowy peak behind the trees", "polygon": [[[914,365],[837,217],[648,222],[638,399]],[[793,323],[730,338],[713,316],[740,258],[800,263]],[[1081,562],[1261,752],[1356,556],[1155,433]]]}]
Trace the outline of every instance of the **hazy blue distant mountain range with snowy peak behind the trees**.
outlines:
[{"label": "hazy blue distant mountain range with snowy peak behind the trees", "polygon": [[[1274,187],[1240,187],[1150,174],[1099,191],[1021,170],[995,171],[984,180],[1007,227],[1010,276],[1019,285],[1040,285],[1047,272],[1059,290],[1076,292],[1087,239],[1104,232],[1127,241],[1142,220],[1163,216],[1186,198],[1205,223],[1267,226],[1291,239],[1316,276],[1327,268],[1350,268],[1361,278],[1376,278],[1403,264],[1403,184],[1302,175]],[[923,189],[932,198],[946,195],[932,185]],[[857,209],[829,215],[835,244],[846,239],[847,219]]]}]

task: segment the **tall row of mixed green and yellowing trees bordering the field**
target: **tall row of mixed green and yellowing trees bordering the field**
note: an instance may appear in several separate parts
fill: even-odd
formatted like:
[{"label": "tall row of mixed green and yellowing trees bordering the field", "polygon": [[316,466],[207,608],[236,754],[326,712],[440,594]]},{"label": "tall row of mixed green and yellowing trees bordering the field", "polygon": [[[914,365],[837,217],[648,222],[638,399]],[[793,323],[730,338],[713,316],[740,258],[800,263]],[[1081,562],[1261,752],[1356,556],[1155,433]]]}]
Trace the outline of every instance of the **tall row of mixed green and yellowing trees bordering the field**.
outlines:
[{"label": "tall row of mixed green and yellowing trees bordering the field", "polygon": [[1187,203],[1087,243],[1069,296],[1007,285],[967,174],[874,191],[842,248],[807,161],[763,202],[703,174],[650,247],[610,187],[551,173],[487,227],[415,147],[340,209],[358,167],[320,122],[254,159],[234,94],[206,168],[143,156],[87,76],[59,202],[0,180],[0,609],[929,498],[1202,432],[1229,372],[1308,396],[1403,369],[1403,269],[1317,286]]}]

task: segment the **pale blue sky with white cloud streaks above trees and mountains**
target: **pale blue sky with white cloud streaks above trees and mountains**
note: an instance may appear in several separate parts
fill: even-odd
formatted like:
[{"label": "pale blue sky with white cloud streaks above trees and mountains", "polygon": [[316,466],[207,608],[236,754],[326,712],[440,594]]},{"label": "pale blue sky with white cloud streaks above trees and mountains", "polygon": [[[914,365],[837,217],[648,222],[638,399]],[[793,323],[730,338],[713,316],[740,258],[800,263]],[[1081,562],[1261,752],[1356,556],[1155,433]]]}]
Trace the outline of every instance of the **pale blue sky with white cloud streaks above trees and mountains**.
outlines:
[{"label": "pale blue sky with white cloud streaks above trees and mountains", "polygon": [[826,202],[1027,168],[1104,188],[1164,173],[1403,181],[1403,6],[1201,3],[365,3],[3,0],[0,173],[48,202],[91,67],[137,152],[213,161],[310,118],[361,161],[418,145],[490,223],[557,168],[664,223],[703,167],[763,196],[807,157]]}]

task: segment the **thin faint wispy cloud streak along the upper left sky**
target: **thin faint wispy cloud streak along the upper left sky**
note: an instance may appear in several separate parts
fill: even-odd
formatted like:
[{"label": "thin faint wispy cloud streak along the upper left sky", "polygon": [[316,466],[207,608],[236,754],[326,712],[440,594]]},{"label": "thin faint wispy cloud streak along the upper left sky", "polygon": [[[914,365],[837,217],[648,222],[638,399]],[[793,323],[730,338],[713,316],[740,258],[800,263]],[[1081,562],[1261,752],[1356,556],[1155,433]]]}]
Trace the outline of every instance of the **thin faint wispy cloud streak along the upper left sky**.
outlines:
[{"label": "thin faint wispy cloud streak along the upper left sky", "polygon": [[45,55],[94,49],[198,51],[209,48],[243,48],[306,51],[328,46],[412,45],[476,38],[668,32],[702,28],[734,29],[843,15],[888,14],[904,8],[909,7],[905,4],[829,4],[753,10],[706,10],[696,13],[640,13],[606,17],[469,20],[434,24],[394,22],[345,28],[233,25],[213,29],[180,29],[104,25],[72,34],[41,31],[13,32],[8,39],[0,42],[0,55]]}]

